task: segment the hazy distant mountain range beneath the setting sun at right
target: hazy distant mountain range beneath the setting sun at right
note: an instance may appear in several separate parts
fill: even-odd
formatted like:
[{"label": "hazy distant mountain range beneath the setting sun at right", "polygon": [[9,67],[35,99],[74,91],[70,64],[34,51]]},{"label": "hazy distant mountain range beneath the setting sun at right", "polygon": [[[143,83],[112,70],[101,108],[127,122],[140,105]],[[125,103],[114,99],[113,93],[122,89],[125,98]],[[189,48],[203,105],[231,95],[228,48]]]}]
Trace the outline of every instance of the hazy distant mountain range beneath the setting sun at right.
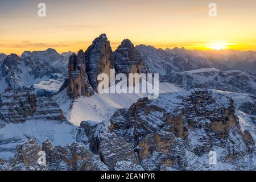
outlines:
[{"label": "hazy distant mountain range beneath the setting sun at right", "polygon": [[256,72],[256,52],[253,51],[243,52],[233,49],[198,51],[185,48],[164,50],[145,45],[136,48],[150,71],[159,72],[161,76],[200,68]]}]

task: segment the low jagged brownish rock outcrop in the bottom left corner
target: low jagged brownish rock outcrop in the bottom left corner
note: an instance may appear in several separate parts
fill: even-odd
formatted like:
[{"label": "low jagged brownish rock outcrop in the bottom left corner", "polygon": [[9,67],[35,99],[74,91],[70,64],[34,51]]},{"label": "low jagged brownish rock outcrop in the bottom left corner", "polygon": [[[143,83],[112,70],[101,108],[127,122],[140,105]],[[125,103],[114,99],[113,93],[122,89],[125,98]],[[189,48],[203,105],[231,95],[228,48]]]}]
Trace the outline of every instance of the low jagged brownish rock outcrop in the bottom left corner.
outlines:
[{"label": "low jagged brownish rock outcrop in the bottom left corner", "polygon": [[[39,155],[43,151],[46,154],[46,164],[39,163]],[[1,162],[1,161],[0,161]],[[72,143],[64,147],[53,147],[47,140],[41,148],[35,140],[31,139],[16,148],[14,158],[10,160],[8,168],[2,161],[5,169],[18,171],[106,171],[108,167],[101,162],[100,156],[93,155],[81,143]],[[1,165],[1,163],[0,163]],[[1,167],[1,166],[0,166]]]}]

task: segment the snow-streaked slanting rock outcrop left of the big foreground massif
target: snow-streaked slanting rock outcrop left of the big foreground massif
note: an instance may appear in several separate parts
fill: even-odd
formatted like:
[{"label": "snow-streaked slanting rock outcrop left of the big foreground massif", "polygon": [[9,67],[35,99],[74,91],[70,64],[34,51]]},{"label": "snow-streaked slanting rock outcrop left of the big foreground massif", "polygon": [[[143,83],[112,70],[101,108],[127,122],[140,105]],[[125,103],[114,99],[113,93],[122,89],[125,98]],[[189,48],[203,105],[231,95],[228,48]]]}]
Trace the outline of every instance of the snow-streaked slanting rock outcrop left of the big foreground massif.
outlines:
[{"label": "snow-streaked slanting rock outcrop left of the big foreground massif", "polygon": [[114,133],[108,133],[103,123],[83,121],[77,132],[77,142],[89,143],[90,151],[100,156],[110,170],[141,170],[133,144]]}]

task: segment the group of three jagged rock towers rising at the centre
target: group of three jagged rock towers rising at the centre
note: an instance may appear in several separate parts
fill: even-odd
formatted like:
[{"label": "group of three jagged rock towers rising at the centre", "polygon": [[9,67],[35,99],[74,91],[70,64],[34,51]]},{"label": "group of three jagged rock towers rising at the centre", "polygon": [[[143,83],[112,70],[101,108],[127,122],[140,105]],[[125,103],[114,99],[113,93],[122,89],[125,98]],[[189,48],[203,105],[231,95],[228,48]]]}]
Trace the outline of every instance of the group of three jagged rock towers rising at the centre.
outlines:
[{"label": "group of three jagged rock towers rising at the centre", "polygon": [[91,46],[83,54],[82,50],[77,55],[69,57],[68,80],[60,90],[67,87],[67,94],[71,97],[93,95],[93,90],[97,92],[100,81],[97,77],[100,73],[109,76],[110,69],[115,69],[115,73],[142,73],[142,58],[130,40],[125,39],[113,53],[110,42],[105,34],[101,34],[94,39]]}]

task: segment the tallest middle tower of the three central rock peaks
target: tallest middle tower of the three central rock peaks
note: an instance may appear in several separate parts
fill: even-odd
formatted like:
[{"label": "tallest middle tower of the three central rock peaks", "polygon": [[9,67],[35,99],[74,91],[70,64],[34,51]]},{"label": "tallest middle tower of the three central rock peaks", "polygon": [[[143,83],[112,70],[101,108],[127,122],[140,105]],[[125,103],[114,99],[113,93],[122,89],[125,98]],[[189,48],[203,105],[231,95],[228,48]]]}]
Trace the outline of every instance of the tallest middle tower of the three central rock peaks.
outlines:
[{"label": "tallest middle tower of the three central rock peaks", "polygon": [[110,69],[114,68],[114,56],[106,34],[96,38],[85,51],[85,63],[90,85],[97,92],[97,76],[106,73],[110,78]]}]

